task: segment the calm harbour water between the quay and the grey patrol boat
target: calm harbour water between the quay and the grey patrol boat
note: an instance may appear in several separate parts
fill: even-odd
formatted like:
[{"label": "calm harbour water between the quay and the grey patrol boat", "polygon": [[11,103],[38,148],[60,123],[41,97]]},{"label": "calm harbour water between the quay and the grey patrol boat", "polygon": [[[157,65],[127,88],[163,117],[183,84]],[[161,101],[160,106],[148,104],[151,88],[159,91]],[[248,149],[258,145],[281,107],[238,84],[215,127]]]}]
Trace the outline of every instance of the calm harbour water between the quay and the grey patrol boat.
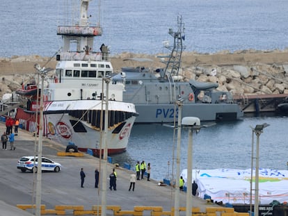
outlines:
[{"label": "calm harbour water between the quay and the grey patrol boat", "polygon": [[[193,169],[250,169],[256,156],[257,136],[253,130],[257,124],[269,124],[259,135],[259,167],[287,169],[287,117],[247,117],[235,122],[218,122],[193,133]],[[252,127],[252,128],[251,128]],[[177,134],[177,131],[176,131]],[[182,128],[180,167],[186,169],[189,134]],[[131,131],[127,151],[112,156],[113,163],[129,163],[134,169],[136,162],[151,163],[151,176],[161,180],[175,173],[177,137],[174,129],[161,124],[137,124]],[[254,160],[255,167],[255,160]]]}]

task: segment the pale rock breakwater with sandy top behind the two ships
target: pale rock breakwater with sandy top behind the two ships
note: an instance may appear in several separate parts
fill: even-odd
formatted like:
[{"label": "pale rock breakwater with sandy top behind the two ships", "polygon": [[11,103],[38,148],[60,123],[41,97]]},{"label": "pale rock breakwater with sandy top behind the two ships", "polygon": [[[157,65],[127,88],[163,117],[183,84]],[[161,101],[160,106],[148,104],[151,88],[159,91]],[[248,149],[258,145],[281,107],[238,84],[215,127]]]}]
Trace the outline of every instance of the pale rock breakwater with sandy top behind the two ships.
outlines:
[{"label": "pale rock breakwater with sandy top behind the two ships", "polygon": [[[123,66],[145,66],[153,69],[164,67],[157,55],[121,53],[111,58],[114,72]],[[152,63],[127,65],[125,58],[151,58]],[[35,79],[34,65],[56,66],[56,59],[41,56],[13,56],[0,58],[0,98],[22,88],[22,83]],[[182,54],[181,75],[184,81],[195,79],[218,83],[217,90],[232,94],[288,94],[288,50],[255,51],[244,50],[230,53]]]}]

